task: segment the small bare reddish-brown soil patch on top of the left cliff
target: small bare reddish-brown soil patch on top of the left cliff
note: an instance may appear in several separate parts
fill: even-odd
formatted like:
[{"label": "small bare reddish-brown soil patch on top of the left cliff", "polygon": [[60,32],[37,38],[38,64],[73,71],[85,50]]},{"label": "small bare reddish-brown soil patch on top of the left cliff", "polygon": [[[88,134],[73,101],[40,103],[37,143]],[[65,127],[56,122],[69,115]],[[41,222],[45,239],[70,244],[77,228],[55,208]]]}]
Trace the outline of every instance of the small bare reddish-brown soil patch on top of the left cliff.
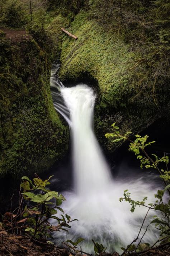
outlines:
[{"label": "small bare reddish-brown soil patch on top of the left cliff", "polygon": [[25,30],[12,30],[10,28],[3,27],[0,27],[0,30],[6,34],[6,39],[9,39],[10,41],[20,42],[22,40],[29,40],[32,38],[31,35],[27,35]]}]

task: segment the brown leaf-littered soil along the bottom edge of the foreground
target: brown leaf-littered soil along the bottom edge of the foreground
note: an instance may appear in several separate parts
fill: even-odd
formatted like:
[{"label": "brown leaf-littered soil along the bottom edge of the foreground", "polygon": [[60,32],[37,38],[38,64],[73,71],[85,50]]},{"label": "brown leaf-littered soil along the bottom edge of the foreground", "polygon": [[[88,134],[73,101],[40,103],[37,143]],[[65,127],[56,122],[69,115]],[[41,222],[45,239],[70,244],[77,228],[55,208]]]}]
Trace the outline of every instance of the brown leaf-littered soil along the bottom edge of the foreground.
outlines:
[{"label": "brown leaf-littered soil along the bottom edge of the foreground", "polygon": [[[67,248],[56,248],[53,245],[48,245],[44,241],[32,241],[28,237],[21,235],[8,234],[5,231],[0,232],[0,256],[18,255],[18,256],[86,256],[81,253],[71,254]],[[144,252],[137,255],[149,256],[170,256],[170,243],[161,247],[156,247],[154,250]],[[119,256],[117,252],[101,253],[99,256]]]}]

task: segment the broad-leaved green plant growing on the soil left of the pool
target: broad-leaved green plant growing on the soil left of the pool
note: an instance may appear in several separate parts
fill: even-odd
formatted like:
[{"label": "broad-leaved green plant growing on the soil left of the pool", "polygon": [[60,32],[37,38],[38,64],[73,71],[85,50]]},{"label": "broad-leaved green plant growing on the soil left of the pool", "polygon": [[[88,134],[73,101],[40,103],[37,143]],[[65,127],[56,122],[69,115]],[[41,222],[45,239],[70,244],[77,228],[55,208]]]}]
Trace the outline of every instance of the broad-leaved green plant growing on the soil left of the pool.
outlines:
[{"label": "broad-leaved green plant growing on the soil left of the pool", "polygon": [[[51,178],[43,181],[36,175],[32,181],[27,176],[22,177],[19,206],[13,212],[4,214],[4,229],[17,234],[27,232],[33,239],[52,238],[51,233],[55,231],[68,232],[67,228],[71,228],[69,224],[77,219],[71,220],[60,207],[65,197],[47,188]],[[62,214],[56,216],[58,211]],[[50,219],[55,219],[57,225],[52,225]]]}]

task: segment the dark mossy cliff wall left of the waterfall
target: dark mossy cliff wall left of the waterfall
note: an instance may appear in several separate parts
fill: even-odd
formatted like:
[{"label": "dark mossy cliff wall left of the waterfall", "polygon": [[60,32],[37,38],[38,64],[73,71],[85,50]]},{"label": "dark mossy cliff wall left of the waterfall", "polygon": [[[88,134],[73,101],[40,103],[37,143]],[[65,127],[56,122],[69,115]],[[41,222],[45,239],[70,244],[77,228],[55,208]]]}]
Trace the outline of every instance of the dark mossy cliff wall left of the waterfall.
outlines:
[{"label": "dark mossy cliff wall left of the waterfall", "polygon": [[50,93],[52,41],[33,33],[0,44],[0,178],[47,170],[68,147],[68,127]]}]

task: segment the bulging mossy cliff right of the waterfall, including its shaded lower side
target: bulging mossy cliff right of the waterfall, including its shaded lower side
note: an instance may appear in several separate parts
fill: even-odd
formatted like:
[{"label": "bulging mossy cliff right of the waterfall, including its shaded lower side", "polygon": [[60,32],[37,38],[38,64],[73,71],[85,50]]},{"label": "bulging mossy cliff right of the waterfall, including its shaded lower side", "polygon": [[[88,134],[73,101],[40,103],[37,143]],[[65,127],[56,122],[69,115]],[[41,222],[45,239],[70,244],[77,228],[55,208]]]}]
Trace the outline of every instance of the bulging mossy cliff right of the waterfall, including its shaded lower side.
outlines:
[{"label": "bulging mossy cliff right of the waterfall, including its shaded lower side", "polygon": [[90,19],[85,11],[75,16],[68,30],[78,40],[63,37],[59,76],[63,82],[90,80],[95,87],[95,130],[104,147],[113,149],[104,138],[113,122],[122,132],[138,133],[164,114],[168,86],[151,78],[150,63],[142,60],[140,51],[134,51],[130,43]]}]

